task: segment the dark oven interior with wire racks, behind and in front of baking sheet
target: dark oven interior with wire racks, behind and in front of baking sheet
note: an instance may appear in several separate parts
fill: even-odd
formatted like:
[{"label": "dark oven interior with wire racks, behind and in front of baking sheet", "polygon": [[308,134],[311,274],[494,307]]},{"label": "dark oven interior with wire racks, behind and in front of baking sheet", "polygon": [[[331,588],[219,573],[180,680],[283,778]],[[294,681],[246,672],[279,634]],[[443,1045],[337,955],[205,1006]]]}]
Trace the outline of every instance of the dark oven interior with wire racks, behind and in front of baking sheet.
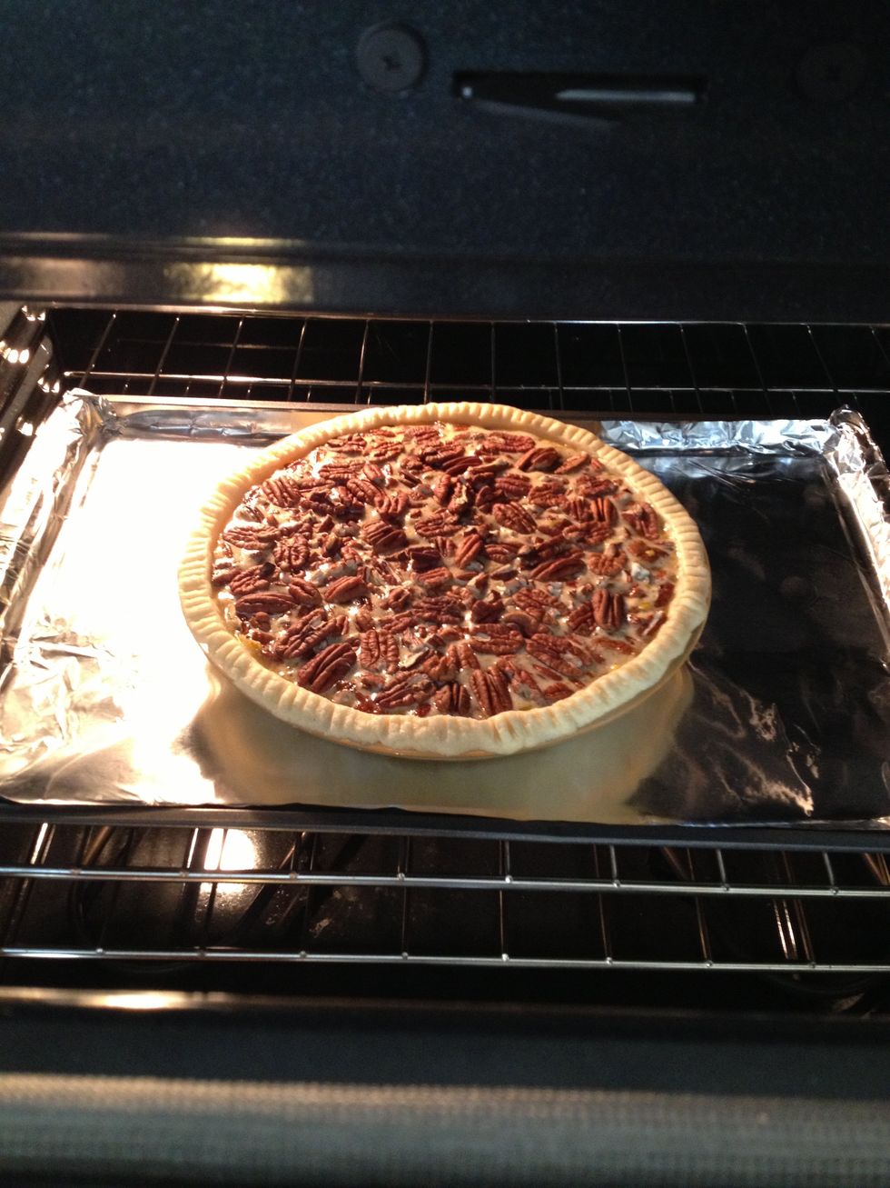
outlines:
[{"label": "dark oven interior with wire racks, behind and in front of baking sheet", "polygon": [[[882,326],[420,321],[23,309],[0,462],[59,393],[497,400],[559,416],[806,419],[890,440]],[[0,807],[5,996],[762,1010],[881,1017],[879,835],[529,830],[398,813]],[[84,999],[85,1000],[85,999]],[[160,1001],[161,999],[158,999]]]}]

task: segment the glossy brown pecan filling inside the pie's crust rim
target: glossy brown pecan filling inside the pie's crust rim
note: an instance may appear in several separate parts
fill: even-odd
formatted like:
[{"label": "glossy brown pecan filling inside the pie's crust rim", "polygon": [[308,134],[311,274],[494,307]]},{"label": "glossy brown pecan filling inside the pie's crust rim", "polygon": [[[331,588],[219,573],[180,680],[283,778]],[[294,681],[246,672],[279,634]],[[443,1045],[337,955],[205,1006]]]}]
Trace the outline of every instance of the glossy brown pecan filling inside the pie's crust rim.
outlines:
[{"label": "glossy brown pecan filling inside the pie's crust rim", "polygon": [[282,677],[417,718],[577,693],[655,637],[675,580],[663,522],[598,459],[445,422],[332,438],[252,487],[211,579]]}]

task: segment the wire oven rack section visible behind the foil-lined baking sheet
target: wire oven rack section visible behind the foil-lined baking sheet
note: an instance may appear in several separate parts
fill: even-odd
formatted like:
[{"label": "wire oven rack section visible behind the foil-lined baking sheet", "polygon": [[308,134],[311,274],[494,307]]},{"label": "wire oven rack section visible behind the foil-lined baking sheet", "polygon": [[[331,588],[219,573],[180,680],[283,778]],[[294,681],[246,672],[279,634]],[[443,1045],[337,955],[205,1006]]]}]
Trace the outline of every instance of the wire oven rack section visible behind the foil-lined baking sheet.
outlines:
[{"label": "wire oven rack section visible behind the foil-lined baking sheet", "polygon": [[602,416],[824,417],[878,437],[890,327],[301,317],[65,309],[69,386],[205,399],[395,404],[475,398]]}]

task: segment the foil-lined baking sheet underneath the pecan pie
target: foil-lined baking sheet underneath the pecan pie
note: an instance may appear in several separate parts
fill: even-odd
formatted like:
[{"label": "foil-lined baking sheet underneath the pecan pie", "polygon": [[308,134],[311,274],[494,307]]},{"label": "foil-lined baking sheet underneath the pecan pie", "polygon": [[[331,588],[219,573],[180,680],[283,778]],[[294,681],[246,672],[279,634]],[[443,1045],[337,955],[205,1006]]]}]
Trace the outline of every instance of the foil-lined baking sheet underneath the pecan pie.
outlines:
[{"label": "foil-lined baking sheet underneath the pecan pie", "polygon": [[603,733],[459,765],[284,726],[206,666],[183,623],[176,570],[195,507],[247,451],[326,416],[64,399],[0,505],[0,796],[889,823],[889,484],[854,413],[604,423],[701,527],[714,581],[701,643]]}]

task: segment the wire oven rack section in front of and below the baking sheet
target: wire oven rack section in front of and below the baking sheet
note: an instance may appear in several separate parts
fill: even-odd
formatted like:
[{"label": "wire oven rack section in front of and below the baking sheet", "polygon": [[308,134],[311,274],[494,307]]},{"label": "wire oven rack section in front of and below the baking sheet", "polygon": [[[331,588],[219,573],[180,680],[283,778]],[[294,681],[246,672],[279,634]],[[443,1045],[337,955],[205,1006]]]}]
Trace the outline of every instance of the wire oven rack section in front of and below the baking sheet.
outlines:
[{"label": "wire oven rack section in front of and below the baking sheet", "polygon": [[[881,852],[12,823],[0,960],[890,973]],[[1,979],[0,979],[1,980]]]}]

